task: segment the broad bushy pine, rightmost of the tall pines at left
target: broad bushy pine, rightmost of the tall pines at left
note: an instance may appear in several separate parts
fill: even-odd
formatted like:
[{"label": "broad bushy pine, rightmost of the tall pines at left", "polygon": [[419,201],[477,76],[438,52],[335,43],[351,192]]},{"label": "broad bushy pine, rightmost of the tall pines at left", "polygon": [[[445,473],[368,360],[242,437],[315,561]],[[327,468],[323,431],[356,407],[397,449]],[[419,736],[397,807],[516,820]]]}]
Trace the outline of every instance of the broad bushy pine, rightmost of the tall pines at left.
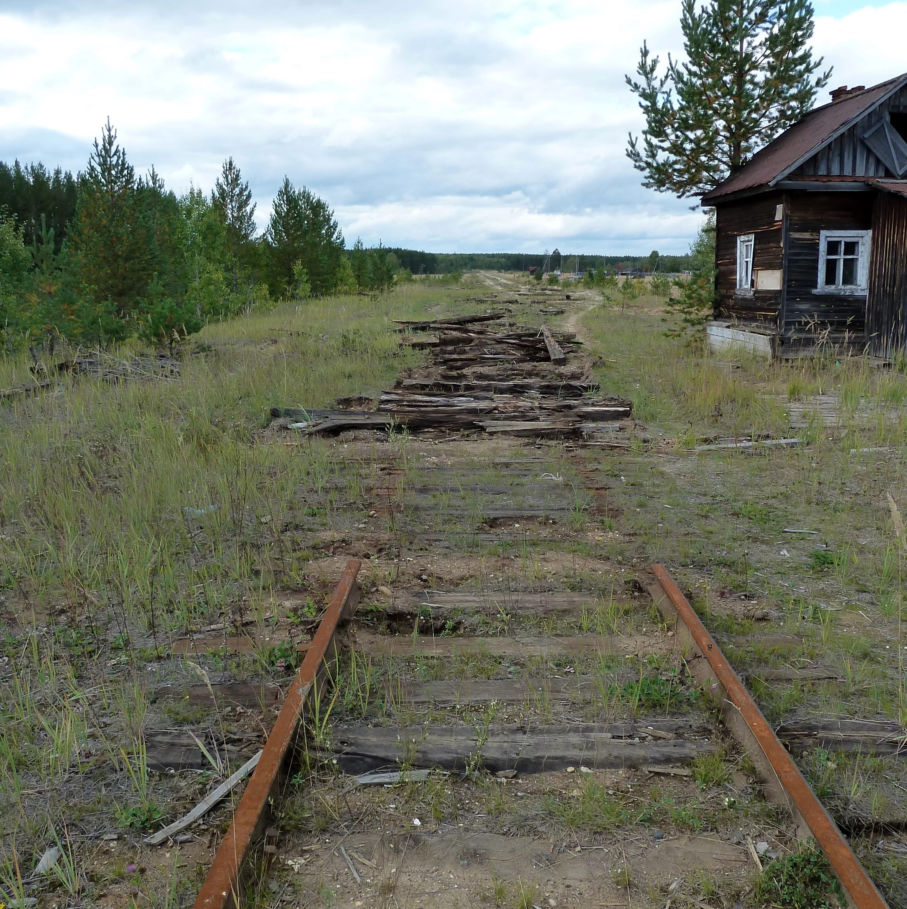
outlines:
[{"label": "broad bushy pine, rightmost of the tall pines at left", "polygon": [[334,213],[305,186],[295,189],[288,177],[274,198],[267,245],[275,295],[292,293],[298,267],[306,269],[313,295],[331,294],[337,287],[344,241]]}]

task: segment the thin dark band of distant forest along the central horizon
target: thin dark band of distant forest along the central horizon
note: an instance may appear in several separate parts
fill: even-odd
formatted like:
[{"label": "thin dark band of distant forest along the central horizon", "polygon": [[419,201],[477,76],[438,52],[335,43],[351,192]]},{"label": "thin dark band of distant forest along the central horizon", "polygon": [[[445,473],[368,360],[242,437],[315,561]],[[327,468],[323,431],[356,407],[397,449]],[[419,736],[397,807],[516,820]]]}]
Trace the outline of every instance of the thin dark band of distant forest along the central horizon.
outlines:
[{"label": "thin dark band of distant forest along the central horizon", "polygon": [[[415,249],[388,247],[400,264],[413,275],[447,275],[450,272],[468,272],[479,268],[499,272],[524,272],[529,267],[541,267],[544,254],[533,253],[424,253]],[[579,265],[577,264],[579,260]],[[653,250],[649,255],[560,255],[561,271],[586,272],[605,268],[608,271],[685,272],[691,267],[690,255],[659,255]]]}]

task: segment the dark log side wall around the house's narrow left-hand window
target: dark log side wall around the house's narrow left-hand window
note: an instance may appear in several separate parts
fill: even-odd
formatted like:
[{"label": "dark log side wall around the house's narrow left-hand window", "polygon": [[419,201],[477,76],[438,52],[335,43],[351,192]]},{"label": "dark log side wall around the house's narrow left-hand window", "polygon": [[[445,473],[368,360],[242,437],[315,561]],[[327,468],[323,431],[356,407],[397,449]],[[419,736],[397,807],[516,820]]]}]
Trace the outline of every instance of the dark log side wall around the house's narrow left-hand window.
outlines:
[{"label": "dark log side wall around the house's narrow left-hand window", "polygon": [[782,200],[780,192],[767,193],[717,206],[716,318],[777,325],[781,291],[754,290],[751,294],[746,294],[737,290],[737,237],[741,234],[754,235],[754,270],[781,269],[784,251],[781,245],[781,221],[775,221],[775,209]]}]

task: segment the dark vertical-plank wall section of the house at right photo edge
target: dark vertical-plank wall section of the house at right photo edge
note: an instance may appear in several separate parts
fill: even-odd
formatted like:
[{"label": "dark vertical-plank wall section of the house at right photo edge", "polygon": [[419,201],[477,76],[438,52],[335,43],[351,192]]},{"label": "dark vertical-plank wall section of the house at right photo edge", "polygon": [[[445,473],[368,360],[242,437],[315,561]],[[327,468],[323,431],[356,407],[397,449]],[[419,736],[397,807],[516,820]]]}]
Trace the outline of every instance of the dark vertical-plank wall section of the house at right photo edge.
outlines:
[{"label": "dark vertical-plank wall section of the house at right photo edge", "polygon": [[902,195],[876,197],[866,333],[870,353],[877,356],[907,346],[907,198]]}]

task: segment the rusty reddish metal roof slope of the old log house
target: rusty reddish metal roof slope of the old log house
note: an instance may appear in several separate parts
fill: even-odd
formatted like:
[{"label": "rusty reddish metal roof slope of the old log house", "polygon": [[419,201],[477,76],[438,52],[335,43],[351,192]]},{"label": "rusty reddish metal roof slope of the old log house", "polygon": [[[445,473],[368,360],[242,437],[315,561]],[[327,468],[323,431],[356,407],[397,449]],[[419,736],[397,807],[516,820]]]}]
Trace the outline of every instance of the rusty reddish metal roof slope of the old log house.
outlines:
[{"label": "rusty reddish metal roof slope of the old log house", "polygon": [[866,88],[862,92],[846,95],[840,101],[813,108],[809,114],[756,152],[737,174],[703,195],[703,205],[710,205],[722,196],[739,193],[741,190],[775,184],[905,83],[907,73],[879,85],[872,85],[872,88]]}]

